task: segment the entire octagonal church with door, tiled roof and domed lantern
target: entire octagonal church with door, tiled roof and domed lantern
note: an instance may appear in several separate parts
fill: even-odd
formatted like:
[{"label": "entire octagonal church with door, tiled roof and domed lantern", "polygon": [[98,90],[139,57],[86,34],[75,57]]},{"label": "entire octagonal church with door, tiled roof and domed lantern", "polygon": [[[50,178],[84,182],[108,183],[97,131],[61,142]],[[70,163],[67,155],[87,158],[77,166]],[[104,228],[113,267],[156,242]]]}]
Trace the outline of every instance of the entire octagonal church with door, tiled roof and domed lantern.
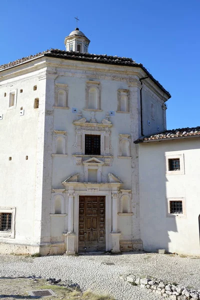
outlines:
[{"label": "entire octagonal church with door, tiled roof and domed lantern", "polygon": [[134,141],[166,130],[170,94],[142,64],[89,54],[89,42],[75,28],[66,51],[0,66],[0,252],[166,246],[144,234],[154,215]]}]

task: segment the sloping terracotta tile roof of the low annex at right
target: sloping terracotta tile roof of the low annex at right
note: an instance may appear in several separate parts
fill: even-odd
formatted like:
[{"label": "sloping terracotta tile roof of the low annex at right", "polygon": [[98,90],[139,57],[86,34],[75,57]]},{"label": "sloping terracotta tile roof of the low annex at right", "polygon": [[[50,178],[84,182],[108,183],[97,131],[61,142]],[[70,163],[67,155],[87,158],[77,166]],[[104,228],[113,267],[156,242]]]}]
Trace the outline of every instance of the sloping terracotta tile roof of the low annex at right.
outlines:
[{"label": "sloping terracotta tile roof of the low annex at right", "polygon": [[143,142],[143,141],[175,139],[175,138],[181,138],[181,137],[184,138],[184,137],[196,136],[196,135],[200,136],[200,126],[191,127],[191,128],[186,127],[186,128],[166,130],[161,133],[138,138],[137,140],[134,141],[134,143],[139,143],[139,142]]}]

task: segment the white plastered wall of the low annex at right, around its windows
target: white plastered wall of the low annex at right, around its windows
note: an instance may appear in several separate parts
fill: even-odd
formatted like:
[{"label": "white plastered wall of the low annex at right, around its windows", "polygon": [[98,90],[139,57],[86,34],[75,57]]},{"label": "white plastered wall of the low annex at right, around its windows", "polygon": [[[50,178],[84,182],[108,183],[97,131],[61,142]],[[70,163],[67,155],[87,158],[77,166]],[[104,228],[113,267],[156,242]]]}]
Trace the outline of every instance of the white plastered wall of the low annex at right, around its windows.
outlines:
[{"label": "white plastered wall of the low annex at right, around its windows", "polygon": [[[166,174],[165,155],[183,158],[183,174]],[[173,157],[175,157],[173,156]],[[199,255],[198,138],[139,144],[140,227],[144,250]],[[181,198],[185,216],[168,216],[167,199]]]}]

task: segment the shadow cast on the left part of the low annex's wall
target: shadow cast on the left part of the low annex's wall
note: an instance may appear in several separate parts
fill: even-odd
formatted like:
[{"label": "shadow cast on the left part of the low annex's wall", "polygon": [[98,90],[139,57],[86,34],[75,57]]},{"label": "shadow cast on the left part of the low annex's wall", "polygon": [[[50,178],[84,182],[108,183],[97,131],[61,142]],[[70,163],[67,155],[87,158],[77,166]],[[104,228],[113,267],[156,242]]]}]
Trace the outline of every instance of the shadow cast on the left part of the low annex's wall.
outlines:
[{"label": "shadow cast on the left part of the low annex's wall", "polygon": [[160,149],[160,153],[157,153],[157,147],[151,144],[144,148],[142,161],[139,162],[140,169],[141,165],[143,169],[140,171],[141,238],[146,251],[156,251],[156,249],[169,251],[171,242],[169,231],[177,232],[177,224],[175,217],[167,216],[164,152]]}]

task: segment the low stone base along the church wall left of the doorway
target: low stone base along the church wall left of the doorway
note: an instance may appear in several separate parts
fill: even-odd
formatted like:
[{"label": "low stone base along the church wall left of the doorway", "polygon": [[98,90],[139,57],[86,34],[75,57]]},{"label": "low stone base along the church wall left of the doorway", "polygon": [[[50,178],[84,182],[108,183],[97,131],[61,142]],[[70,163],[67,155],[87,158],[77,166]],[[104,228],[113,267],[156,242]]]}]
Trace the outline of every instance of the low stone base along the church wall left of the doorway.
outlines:
[{"label": "low stone base along the church wall left of the doorway", "polygon": [[23,245],[23,244],[11,244],[11,243],[0,243],[0,254],[24,254],[31,255],[39,253],[43,255],[57,255],[65,253],[64,242],[59,243],[45,243],[39,246]]}]

